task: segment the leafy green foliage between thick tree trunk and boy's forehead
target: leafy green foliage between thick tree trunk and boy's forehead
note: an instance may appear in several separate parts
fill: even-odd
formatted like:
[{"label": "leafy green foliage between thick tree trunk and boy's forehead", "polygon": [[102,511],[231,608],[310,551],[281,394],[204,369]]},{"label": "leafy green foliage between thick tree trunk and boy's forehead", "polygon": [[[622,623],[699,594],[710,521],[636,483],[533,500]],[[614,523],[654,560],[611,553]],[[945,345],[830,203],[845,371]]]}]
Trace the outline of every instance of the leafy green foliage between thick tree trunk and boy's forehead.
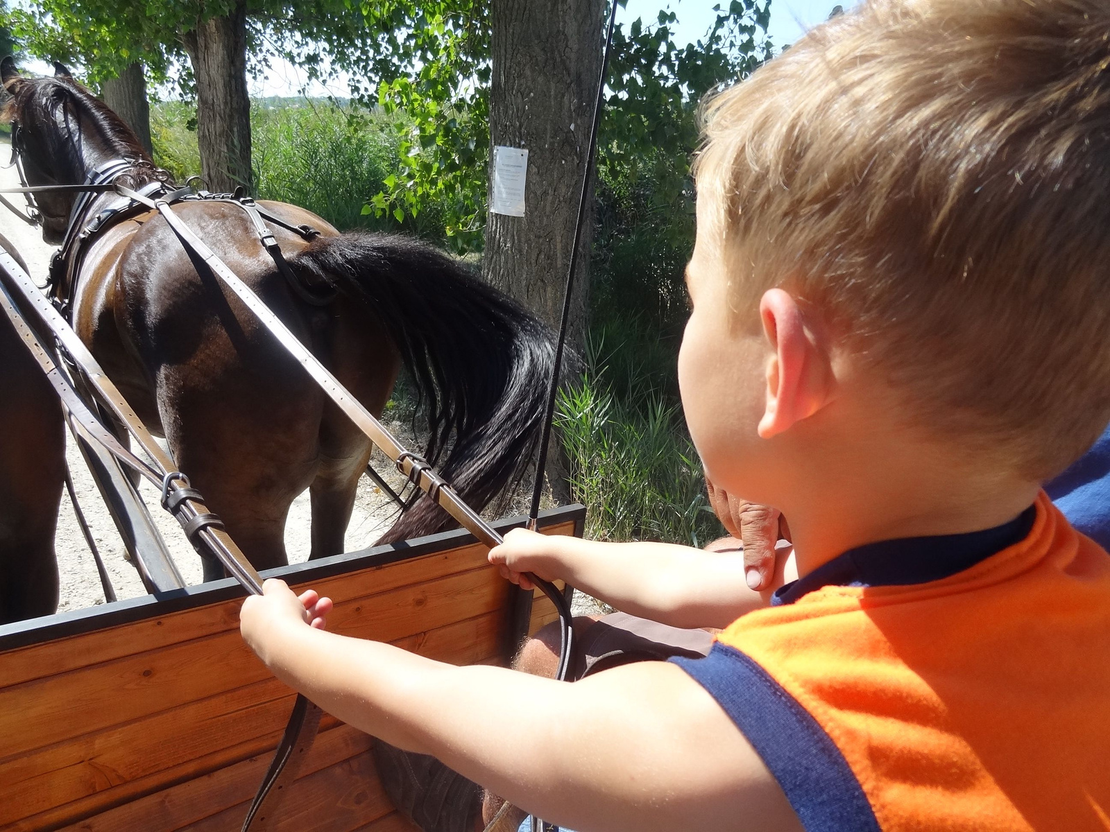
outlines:
[{"label": "leafy green foliage between thick tree trunk and boy's forehead", "polygon": [[704,41],[672,40],[674,12],[614,34],[610,94],[598,153],[595,312],[638,315],[676,338],[686,316],[683,272],[694,247],[690,151],[698,104],[771,54],[769,0],[734,0]]}]

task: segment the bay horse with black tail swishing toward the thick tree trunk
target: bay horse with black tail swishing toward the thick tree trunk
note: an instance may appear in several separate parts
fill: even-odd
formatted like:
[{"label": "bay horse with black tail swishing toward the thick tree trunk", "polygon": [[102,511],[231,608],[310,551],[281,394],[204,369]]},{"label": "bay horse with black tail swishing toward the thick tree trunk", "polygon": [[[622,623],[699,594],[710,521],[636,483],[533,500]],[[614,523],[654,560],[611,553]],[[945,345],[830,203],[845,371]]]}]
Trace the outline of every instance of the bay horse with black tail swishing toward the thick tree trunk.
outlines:
[{"label": "bay horse with black tail swishing toward the thick tree trunk", "polygon": [[[165,180],[134,133],[60,64],[53,78],[0,79],[27,183],[78,184],[112,160],[128,187]],[[42,235],[60,243],[120,197],[41,193]],[[83,205],[82,205],[83,202]],[[74,205],[77,204],[77,211]],[[260,202],[287,274],[238,205],[190,200],[174,211],[363,405],[380,415],[402,366],[428,420],[424,456],[475,508],[519,476],[536,446],[553,338],[518,303],[436,248],[395,235],[340,234],[320,216]],[[306,240],[297,226],[319,236]],[[57,285],[73,328],[139,417],[259,569],[286,562],[293,498],[310,489],[311,558],[343,551],[371,443],[230,291],[198,270],[157,212],[92,235],[71,285]],[[452,520],[422,497],[382,538]],[[222,568],[205,559],[206,580]]]}]

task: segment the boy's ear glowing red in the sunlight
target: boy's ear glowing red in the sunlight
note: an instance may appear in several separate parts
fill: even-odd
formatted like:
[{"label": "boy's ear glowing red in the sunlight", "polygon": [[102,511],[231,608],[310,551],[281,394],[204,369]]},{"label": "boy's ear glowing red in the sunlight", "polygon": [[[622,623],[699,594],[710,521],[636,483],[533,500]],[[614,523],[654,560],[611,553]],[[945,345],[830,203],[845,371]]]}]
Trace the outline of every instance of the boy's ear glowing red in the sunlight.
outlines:
[{"label": "boy's ear glowing red in the sunlight", "polygon": [[769,439],[828,403],[831,366],[789,293],[781,288],[764,293],[759,317],[774,353],[767,362],[767,404],[759,419],[759,436]]}]

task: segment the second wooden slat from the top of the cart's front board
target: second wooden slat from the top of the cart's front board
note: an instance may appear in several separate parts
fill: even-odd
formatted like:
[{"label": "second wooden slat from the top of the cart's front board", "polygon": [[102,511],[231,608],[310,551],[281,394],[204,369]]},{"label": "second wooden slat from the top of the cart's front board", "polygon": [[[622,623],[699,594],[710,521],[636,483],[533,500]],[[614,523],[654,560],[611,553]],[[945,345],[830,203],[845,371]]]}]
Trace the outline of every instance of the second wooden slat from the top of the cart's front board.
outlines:
[{"label": "second wooden slat from the top of the cart's front board", "polygon": [[[506,595],[507,586],[477,569],[336,605],[333,620],[339,632],[392,641],[492,612]],[[14,686],[0,691],[3,750],[8,757],[26,753],[269,676],[239,632],[230,631],[107,662],[95,672]]]}]

